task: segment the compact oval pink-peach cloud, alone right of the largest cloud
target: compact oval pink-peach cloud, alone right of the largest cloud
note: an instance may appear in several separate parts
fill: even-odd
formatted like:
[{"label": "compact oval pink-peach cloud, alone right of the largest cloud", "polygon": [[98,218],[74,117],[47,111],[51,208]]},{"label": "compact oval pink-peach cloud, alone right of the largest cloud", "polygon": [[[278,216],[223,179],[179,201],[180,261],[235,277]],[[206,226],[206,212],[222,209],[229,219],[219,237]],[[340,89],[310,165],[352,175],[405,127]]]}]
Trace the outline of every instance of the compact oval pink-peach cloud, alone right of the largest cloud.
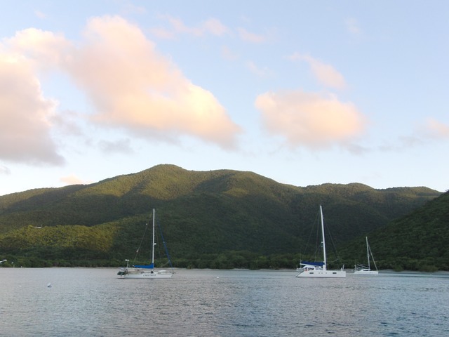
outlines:
[{"label": "compact oval pink-peach cloud, alone right of the largest cloud", "polygon": [[325,148],[342,145],[361,136],[366,121],[354,104],[334,95],[304,91],[264,93],[255,100],[262,123],[270,133],[286,138],[291,146]]}]

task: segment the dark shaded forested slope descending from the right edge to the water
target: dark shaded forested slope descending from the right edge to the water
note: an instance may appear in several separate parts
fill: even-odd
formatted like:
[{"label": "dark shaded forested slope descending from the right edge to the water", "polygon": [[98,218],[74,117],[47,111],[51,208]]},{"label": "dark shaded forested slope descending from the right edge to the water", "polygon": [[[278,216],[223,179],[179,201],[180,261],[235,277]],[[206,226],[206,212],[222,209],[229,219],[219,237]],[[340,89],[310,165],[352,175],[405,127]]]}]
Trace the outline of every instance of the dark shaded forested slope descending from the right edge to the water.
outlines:
[{"label": "dark shaded forested slope descending from the right edge to the water", "polygon": [[[368,234],[377,264],[394,270],[449,270],[449,192]],[[366,263],[364,237],[341,251]]]}]

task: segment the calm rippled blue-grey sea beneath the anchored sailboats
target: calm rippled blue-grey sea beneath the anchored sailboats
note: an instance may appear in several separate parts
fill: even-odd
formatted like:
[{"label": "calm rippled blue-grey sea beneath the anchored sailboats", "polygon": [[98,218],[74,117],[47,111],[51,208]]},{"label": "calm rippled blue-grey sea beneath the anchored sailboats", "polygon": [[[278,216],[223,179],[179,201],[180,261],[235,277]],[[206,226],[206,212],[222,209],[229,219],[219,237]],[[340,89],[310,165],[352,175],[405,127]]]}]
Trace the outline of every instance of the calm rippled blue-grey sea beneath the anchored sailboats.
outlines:
[{"label": "calm rippled blue-grey sea beneath the anchored sailboats", "polygon": [[0,268],[0,336],[449,336],[448,274],[116,272]]}]

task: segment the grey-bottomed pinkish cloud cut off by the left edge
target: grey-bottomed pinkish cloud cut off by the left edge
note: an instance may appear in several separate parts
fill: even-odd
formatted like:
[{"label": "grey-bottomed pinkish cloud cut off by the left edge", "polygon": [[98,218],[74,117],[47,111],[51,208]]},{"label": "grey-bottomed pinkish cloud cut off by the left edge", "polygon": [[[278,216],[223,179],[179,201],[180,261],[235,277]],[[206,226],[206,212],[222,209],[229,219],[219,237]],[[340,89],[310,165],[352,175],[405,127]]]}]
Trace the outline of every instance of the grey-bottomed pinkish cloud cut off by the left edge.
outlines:
[{"label": "grey-bottomed pinkish cloud cut off by the left edge", "polygon": [[62,164],[51,138],[55,102],[43,97],[31,62],[1,53],[0,158],[28,164]]}]

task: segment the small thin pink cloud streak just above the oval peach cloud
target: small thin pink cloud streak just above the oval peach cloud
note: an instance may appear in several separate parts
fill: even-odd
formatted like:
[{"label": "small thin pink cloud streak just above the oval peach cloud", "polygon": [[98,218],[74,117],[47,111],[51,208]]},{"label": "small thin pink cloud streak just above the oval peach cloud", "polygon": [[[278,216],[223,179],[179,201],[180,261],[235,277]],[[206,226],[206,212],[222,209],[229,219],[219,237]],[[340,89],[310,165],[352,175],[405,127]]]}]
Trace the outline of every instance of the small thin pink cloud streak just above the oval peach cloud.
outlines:
[{"label": "small thin pink cloud streak just above the oval peach cloud", "polygon": [[309,63],[312,73],[314,74],[316,79],[324,86],[336,89],[344,89],[347,86],[343,75],[340,74],[340,72],[337,72],[337,70],[335,70],[332,65],[328,65],[319,60],[316,60],[310,55],[302,55],[300,53],[294,53],[288,58],[290,60],[302,60]]}]

